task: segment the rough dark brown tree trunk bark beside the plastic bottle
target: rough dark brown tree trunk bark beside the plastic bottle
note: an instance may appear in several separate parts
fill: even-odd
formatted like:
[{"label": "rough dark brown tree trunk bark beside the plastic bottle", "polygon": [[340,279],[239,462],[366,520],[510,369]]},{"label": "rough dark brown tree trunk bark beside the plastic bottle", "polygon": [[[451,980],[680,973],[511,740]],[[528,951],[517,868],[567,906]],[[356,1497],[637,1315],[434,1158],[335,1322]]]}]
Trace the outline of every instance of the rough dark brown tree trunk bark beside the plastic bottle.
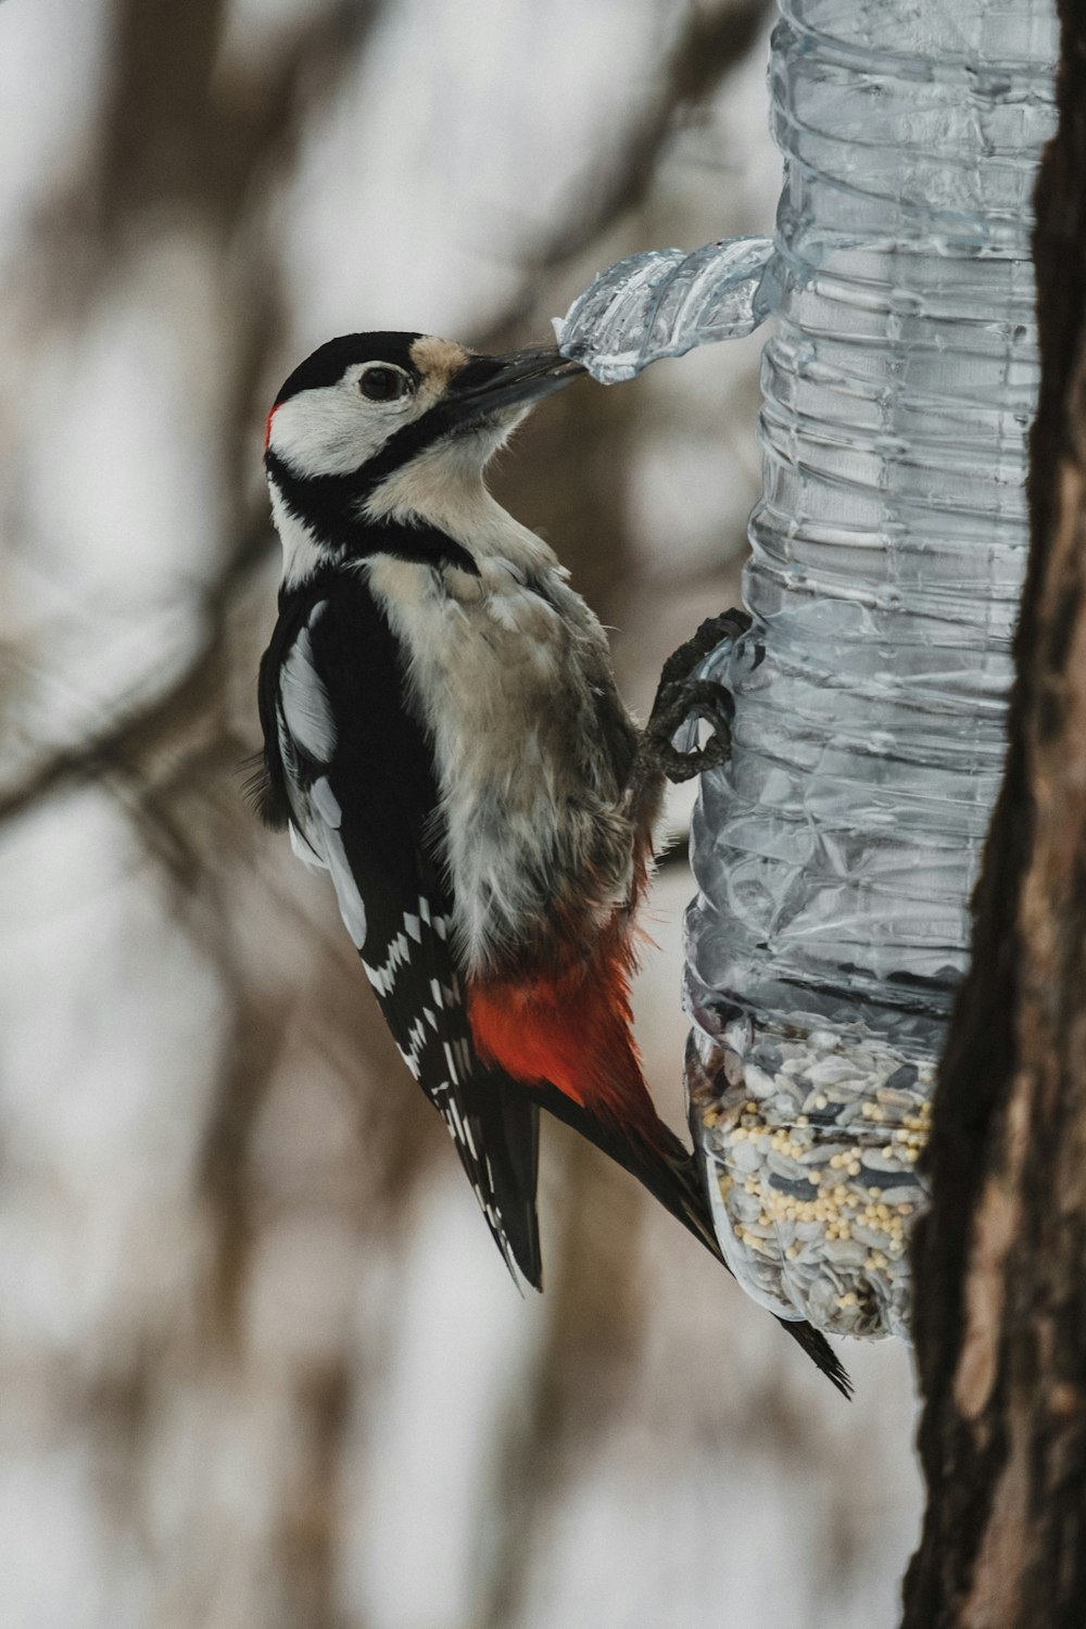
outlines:
[{"label": "rough dark brown tree trunk bark beside the plastic bottle", "polygon": [[1086,1624],[1086,3],[1060,16],[1009,751],[913,1253],[928,1508],[904,1629]]}]

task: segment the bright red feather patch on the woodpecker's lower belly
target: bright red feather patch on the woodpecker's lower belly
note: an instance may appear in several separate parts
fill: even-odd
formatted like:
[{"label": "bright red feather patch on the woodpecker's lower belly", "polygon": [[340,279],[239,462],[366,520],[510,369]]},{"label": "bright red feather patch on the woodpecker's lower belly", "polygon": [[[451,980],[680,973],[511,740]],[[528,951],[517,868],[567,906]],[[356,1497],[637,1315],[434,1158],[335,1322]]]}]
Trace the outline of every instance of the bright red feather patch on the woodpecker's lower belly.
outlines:
[{"label": "bright red feather patch on the woodpecker's lower belly", "polygon": [[526,1085],[550,1082],[573,1103],[625,1122],[656,1126],[630,1033],[630,994],[617,966],[585,977],[472,984],[467,992],[475,1051]]}]

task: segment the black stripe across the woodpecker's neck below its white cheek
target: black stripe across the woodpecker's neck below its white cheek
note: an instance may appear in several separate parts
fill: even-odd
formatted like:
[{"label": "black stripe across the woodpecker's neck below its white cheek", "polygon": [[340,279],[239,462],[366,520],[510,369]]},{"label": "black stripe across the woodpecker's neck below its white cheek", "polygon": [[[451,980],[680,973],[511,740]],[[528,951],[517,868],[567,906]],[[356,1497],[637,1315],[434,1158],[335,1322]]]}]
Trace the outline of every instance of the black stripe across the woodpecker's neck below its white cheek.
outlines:
[{"label": "black stripe across the woodpecker's neck below its white cheek", "polygon": [[[342,551],[358,560],[373,554],[391,554],[397,560],[415,560],[420,565],[454,565],[479,577],[479,567],[467,549],[436,526],[360,516],[360,505],[373,490],[373,484],[358,472],[296,476],[270,448],[264,461],[287,510],[308,526],[326,549]],[[366,476],[371,468],[366,466]]]}]

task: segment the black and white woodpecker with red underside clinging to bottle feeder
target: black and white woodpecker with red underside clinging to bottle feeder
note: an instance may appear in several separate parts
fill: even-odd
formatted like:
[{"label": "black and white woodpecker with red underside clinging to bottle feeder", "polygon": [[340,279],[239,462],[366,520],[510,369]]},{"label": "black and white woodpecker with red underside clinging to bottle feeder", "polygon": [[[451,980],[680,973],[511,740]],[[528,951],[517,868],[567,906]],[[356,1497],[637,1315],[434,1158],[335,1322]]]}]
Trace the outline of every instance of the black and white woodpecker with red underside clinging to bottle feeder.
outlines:
[{"label": "black and white woodpecker with red underside clinging to bottle feeder", "polygon": [[[541,1109],[723,1259],[630,1015],[664,775],[728,749],[728,694],[689,678],[723,629],[676,653],[640,731],[601,624],[484,481],[531,406],[581,373],[555,350],[348,334],[290,375],[264,454],[283,578],[257,806],[327,870],[401,1056],[536,1289]],[[677,754],[690,714],[715,736]],[[825,1339],[785,1328],[847,1393]]]}]

